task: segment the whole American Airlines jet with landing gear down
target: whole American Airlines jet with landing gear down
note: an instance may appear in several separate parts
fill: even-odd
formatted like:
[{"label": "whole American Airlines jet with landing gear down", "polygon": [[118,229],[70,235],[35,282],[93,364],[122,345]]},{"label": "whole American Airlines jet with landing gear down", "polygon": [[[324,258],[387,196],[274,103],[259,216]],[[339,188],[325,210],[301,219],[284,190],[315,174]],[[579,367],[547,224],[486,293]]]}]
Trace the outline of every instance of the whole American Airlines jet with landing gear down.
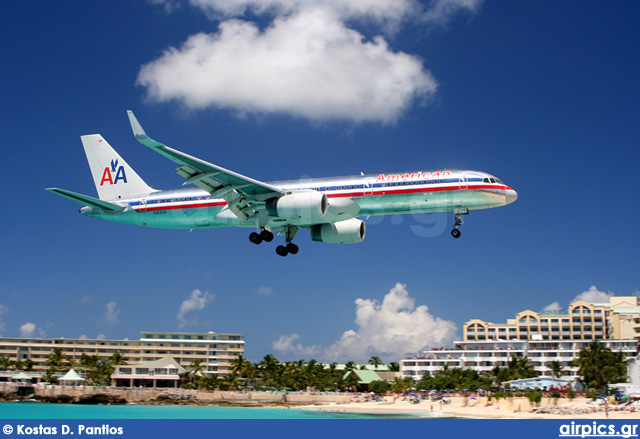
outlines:
[{"label": "whole American Airlines jet with landing gear down", "polygon": [[437,170],[262,182],[205,162],[152,140],[127,111],[134,137],[178,164],[195,188],[156,190],[148,186],[100,134],[81,136],[98,198],[64,189],[49,192],[84,205],[80,213],[145,227],[201,229],[248,227],[254,244],[284,235],[280,256],[298,253],[292,241],[300,228],[313,241],[359,243],[366,224],[359,217],[452,211],[451,235],[460,237],[462,216],[471,210],[513,203],[518,194],[493,175]]}]

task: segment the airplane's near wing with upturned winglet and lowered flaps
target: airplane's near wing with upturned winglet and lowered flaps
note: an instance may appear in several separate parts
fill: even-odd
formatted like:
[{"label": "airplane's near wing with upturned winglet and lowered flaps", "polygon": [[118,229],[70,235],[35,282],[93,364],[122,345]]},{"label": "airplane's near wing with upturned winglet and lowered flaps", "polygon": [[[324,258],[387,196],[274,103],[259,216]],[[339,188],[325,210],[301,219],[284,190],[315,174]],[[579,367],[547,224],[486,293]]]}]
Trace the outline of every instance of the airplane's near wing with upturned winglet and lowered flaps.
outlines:
[{"label": "airplane's near wing with upturned winglet and lowered flaps", "polygon": [[127,114],[133,135],[138,142],[178,163],[180,166],[176,170],[186,179],[184,184],[193,183],[209,192],[211,198],[224,199],[240,221],[246,221],[257,214],[257,204],[285,194],[278,187],[245,177],[156,142],[147,136],[132,111],[127,110]]}]

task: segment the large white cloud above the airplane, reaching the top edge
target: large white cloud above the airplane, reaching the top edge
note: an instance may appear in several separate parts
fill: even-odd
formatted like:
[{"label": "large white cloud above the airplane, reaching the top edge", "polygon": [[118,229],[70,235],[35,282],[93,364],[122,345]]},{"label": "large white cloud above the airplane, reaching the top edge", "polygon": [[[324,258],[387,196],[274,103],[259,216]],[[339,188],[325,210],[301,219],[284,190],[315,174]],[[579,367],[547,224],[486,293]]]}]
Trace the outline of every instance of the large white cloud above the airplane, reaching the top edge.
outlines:
[{"label": "large white cloud above the airplane, reaching the top edge", "polygon": [[[156,0],[157,3],[157,0]],[[170,2],[169,2],[170,3]],[[192,0],[218,32],[197,33],[142,66],[137,83],[156,102],[189,109],[285,113],[310,120],[391,123],[437,89],[417,56],[353,28],[366,18],[393,28],[416,16],[444,22],[479,0]],[[275,16],[264,29],[234,17]],[[351,27],[350,27],[351,26]]]}]

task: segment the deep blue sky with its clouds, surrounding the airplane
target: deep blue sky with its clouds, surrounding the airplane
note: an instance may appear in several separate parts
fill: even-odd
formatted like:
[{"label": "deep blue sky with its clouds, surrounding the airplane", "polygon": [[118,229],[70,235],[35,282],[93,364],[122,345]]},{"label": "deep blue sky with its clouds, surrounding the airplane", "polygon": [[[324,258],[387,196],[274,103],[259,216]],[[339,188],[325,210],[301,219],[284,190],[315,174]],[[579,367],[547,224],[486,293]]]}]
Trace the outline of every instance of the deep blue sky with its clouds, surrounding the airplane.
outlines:
[{"label": "deep blue sky with its clouds, surrounding the airplane", "polygon": [[[471,318],[640,289],[638,2],[323,3],[5,5],[0,334],[233,332],[253,361],[397,361]],[[95,195],[92,133],[181,185],[127,109],[263,181],[462,168],[519,199],[459,240],[451,215],[371,218],[361,244],[302,231],[281,258],[247,230],[107,223],[43,190]]]}]

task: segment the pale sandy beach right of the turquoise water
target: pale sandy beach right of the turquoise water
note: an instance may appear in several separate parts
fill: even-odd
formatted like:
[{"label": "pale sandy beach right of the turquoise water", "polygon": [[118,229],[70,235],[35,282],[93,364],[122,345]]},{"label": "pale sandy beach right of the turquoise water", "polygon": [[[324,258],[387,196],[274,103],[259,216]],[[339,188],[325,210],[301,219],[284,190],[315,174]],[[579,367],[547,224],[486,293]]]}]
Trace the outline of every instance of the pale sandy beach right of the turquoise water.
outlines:
[{"label": "pale sandy beach right of the turquoise water", "polygon": [[[467,418],[513,418],[513,419],[607,419],[604,406],[588,404],[585,398],[576,398],[572,401],[559,399],[543,401],[541,407],[531,407],[526,398],[513,398],[512,400],[495,400],[487,405],[486,398],[469,400],[463,397],[452,397],[450,404],[440,405],[438,402],[421,401],[412,404],[402,398],[386,397],[380,402],[347,402],[315,404],[299,407],[303,410],[331,410],[343,412],[369,412],[369,413],[429,413],[433,415],[445,415]],[[554,408],[552,408],[554,407]],[[536,410],[537,409],[537,410]],[[535,411],[534,411],[535,410]],[[538,413],[538,410],[564,412]],[[609,408],[608,419],[640,419],[640,408],[635,411],[620,411],[616,406]]]}]

